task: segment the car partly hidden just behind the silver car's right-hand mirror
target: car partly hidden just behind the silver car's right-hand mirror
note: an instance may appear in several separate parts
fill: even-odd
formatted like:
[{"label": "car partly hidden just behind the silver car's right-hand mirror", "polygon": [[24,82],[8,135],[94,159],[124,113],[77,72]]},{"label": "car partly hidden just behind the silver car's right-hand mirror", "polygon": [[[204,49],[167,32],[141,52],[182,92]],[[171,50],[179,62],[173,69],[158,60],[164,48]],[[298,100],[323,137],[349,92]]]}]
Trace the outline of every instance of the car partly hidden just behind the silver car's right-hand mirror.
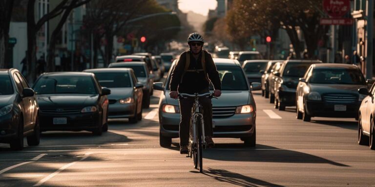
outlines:
[{"label": "car partly hidden just behind the silver car's right-hand mirror", "polygon": [[269,61],[270,60],[245,60],[242,68],[244,68],[250,84],[262,81],[262,75]]}]

